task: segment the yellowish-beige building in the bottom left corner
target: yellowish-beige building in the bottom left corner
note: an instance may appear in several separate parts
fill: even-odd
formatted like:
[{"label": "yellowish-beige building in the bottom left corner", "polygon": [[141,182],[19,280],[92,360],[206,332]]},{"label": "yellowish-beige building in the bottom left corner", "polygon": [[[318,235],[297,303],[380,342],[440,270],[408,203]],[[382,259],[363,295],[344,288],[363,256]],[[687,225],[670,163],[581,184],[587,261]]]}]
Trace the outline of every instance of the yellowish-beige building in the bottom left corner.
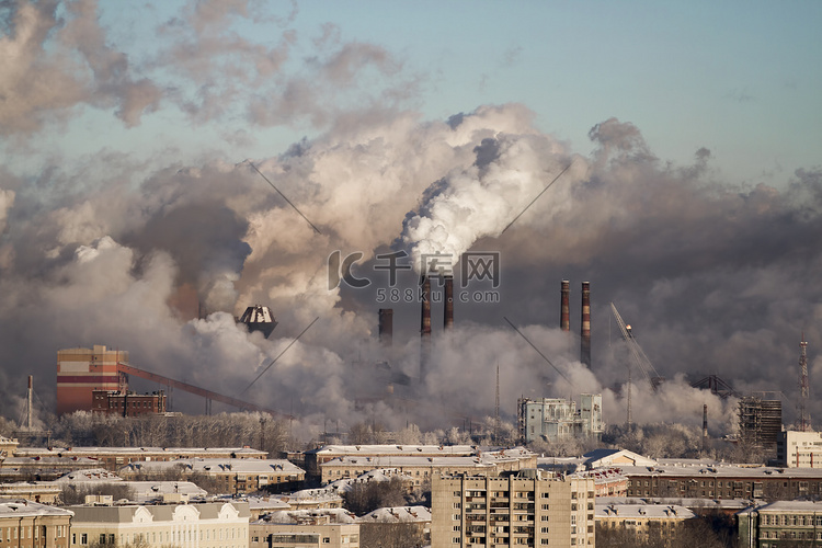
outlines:
[{"label": "yellowish-beige building in the bottom left corner", "polygon": [[0,500],[0,546],[69,548],[68,510],[25,500]]}]

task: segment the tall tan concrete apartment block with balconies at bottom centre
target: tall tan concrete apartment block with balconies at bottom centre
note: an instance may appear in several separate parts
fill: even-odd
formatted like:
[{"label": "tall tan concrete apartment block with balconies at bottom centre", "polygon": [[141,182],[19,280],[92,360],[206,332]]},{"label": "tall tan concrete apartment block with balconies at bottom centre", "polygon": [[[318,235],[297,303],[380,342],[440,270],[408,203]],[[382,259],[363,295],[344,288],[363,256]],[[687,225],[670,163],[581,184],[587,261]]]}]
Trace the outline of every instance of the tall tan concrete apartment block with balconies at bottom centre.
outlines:
[{"label": "tall tan concrete apartment block with balconies at bottom centre", "polygon": [[593,546],[594,480],[530,469],[432,482],[431,545]]}]

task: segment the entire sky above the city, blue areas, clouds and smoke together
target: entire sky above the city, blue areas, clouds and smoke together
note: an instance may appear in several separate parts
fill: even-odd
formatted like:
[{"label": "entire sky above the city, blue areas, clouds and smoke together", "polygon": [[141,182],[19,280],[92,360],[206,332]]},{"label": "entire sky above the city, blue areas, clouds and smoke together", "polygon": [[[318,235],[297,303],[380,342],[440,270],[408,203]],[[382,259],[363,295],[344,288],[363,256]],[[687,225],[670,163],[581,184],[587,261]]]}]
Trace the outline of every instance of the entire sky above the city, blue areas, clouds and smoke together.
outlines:
[{"label": "entire sky above the city, blue areas, clouds and smoke together", "polygon": [[[101,343],[237,395],[320,318],[248,393],[306,432],[480,418],[498,364],[509,415],[520,396],[602,391],[619,423],[612,301],[669,379],[632,377],[639,421],[697,424],[705,400],[731,430],[732,401],[688,389],[701,374],[783,398],[792,421],[802,333],[814,393],[818,2],[11,0],[0,21],[7,415],[20,364],[48,408],[56,351]],[[368,287],[329,288],[335,250],[363,253]],[[390,302],[378,255],[478,251],[500,254],[500,286],[480,285],[499,300],[469,294],[449,333],[435,319],[420,379],[419,305]],[[400,272],[399,295],[416,276]],[[278,318],[270,340],[231,318],[255,302]],[[403,375],[404,403],[386,400]]]}]

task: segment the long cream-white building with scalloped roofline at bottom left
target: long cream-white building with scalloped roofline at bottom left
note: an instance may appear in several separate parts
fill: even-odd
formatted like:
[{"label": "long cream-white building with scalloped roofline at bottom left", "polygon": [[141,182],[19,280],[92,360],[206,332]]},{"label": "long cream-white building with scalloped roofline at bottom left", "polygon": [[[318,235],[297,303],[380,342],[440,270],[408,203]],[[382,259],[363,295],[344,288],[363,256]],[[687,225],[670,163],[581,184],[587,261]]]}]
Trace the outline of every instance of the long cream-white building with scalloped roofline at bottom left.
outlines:
[{"label": "long cream-white building with scalloped roofline at bottom left", "polygon": [[69,506],[71,545],[147,548],[248,548],[249,506],[244,502],[157,505]]}]

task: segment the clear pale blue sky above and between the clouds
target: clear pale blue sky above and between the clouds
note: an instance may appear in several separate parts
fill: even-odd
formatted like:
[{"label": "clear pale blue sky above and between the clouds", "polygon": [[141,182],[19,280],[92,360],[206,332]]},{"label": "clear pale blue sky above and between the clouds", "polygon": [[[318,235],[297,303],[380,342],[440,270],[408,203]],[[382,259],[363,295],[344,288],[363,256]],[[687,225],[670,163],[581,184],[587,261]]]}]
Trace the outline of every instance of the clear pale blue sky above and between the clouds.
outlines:
[{"label": "clear pale blue sky above and between the clouds", "polygon": [[[408,84],[395,106],[425,119],[521,102],[540,129],[585,155],[591,127],[617,117],[635,124],[662,160],[688,163],[708,148],[716,178],[730,184],[779,186],[796,169],[821,163],[819,2],[231,3],[241,9],[215,23],[220,36],[274,48],[290,33],[287,60],[266,76],[272,80],[306,73],[318,55],[315,41],[333,28],[339,44],[383,48],[393,66],[388,79]],[[241,94],[225,101],[219,117],[195,121],[182,112],[169,95],[194,93],[194,84],[163,60],[179,33],[192,31],[185,15],[193,5],[101,1],[109,46],[127,55],[135,79],[149,78],[165,96],[134,127],[113,118],[111,107],[67,109],[61,123],[28,136],[33,156],[71,163],[109,149],[155,167],[214,156],[240,161],[275,156],[328,129],[328,121],[305,117],[250,124]],[[70,19],[65,7],[58,13]],[[54,38],[45,45],[61,47]],[[386,89],[385,75],[363,69],[356,79],[353,93],[323,100],[351,106]],[[229,134],[242,141],[227,142]],[[32,174],[38,162],[31,158],[15,149],[5,163]]]}]

